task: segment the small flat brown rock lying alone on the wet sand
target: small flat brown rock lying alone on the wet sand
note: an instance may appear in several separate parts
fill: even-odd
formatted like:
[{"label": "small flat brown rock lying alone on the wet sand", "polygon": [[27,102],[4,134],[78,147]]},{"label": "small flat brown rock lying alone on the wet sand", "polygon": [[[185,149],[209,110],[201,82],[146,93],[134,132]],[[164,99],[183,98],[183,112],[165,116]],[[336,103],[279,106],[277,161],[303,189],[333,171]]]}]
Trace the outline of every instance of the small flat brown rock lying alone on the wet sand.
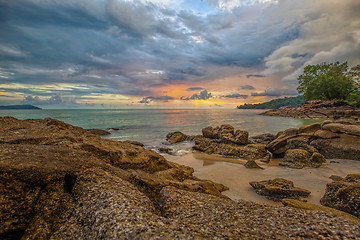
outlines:
[{"label": "small flat brown rock lying alone on the wet sand", "polygon": [[255,189],[256,193],[273,201],[281,201],[283,198],[300,199],[308,197],[311,193],[306,189],[294,187],[292,181],[283,178],[254,181],[249,184]]}]

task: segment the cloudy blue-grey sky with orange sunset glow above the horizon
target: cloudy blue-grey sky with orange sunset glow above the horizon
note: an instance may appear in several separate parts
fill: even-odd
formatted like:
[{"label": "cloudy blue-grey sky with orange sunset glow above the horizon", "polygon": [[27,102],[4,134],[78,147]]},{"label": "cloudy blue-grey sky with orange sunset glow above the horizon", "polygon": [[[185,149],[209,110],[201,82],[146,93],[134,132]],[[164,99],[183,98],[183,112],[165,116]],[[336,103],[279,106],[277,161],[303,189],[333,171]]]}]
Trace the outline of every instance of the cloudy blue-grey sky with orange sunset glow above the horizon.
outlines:
[{"label": "cloudy blue-grey sky with orange sunset glow above the horizon", "polygon": [[359,0],[0,0],[0,105],[235,108],[360,64]]}]

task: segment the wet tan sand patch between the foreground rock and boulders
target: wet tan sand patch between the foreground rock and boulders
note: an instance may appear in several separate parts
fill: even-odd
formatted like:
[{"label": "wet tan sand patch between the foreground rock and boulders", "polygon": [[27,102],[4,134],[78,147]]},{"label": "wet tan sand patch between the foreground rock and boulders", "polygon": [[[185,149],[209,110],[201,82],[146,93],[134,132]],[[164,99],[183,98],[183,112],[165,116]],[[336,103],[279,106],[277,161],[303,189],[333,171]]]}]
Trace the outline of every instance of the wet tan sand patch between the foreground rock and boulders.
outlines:
[{"label": "wet tan sand patch between the foreground rock and boulders", "polygon": [[[258,162],[264,169],[248,169],[244,167],[246,160],[223,158],[205,153],[189,153],[184,156],[165,156],[169,161],[194,168],[196,177],[222,183],[230,190],[223,194],[231,199],[244,199],[257,203],[282,205],[258,195],[249,185],[251,181],[285,178],[294,182],[296,187],[311,191],[308,202],[320,204],[325,193],[329,177],[338,175],[345,177],[350,173],[360,173],[360,162],[354,160],[331,159],[320,168],[292,169],[277,166],[279,159],[272,159],[270,164]],[[336,161],[336,162],[333,162]]]}]

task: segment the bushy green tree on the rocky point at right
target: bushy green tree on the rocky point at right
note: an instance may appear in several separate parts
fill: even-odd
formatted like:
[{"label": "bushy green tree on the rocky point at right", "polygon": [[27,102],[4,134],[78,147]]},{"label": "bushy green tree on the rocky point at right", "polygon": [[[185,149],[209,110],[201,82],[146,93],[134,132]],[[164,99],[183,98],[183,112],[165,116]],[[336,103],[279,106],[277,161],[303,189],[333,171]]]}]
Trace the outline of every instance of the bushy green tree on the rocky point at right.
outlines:
[{"label": "bushy green tree on the rocky point at right", "polygon": [[360,65],[349,70],[347,62],[308,65],[298,77],[305,100],[348,100],[359,96]]}]

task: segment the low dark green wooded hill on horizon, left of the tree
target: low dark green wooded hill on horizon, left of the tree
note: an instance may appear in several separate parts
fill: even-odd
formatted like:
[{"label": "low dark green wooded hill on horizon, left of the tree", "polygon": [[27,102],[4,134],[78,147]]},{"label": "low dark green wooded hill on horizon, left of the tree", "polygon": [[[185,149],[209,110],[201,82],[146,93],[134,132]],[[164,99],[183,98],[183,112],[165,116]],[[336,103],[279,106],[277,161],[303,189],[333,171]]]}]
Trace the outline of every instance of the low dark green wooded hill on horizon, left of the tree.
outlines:
[{"label": "low dark green wooded hill on horizon, left of the tree", "polygon": [[305,103],[302,96],[274,99],[269,102],[237,106],[238,109],[278,109],[285,106],[299,107]]}]

